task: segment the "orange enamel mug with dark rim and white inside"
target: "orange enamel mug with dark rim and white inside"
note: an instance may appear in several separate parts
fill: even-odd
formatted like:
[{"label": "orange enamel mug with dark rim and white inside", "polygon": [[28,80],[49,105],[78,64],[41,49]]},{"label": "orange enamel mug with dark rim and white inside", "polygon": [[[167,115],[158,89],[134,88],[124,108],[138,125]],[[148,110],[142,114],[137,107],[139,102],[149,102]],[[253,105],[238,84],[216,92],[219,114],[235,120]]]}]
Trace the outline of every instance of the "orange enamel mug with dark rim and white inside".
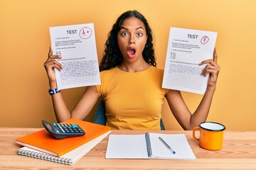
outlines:
[{"label": "orange enamel mug with dark rim and white inside", "polygon": [[[199,138],[196,130],[200,130]],[[215,122],[203,122],[199,127],[193,128],[193,139],[199,141],[199,146],[208,150],[219,150],[223,146],[223,133],[225,126]]]}]

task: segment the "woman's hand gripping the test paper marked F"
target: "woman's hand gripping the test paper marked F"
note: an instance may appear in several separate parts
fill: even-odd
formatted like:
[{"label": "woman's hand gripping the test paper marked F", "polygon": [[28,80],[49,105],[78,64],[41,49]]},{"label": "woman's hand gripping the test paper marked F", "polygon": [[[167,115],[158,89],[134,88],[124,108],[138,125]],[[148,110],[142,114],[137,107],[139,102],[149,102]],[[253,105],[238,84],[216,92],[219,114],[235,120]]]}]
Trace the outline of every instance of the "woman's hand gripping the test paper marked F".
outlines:
[{"label": "woman's hand gripping the test paper marked F", "polygon": [[220,66],[217,64],[218,55],[216,49],[213,51],[213,60],[205,60],[201,62],[199,65],[207,64],[203,69],[202,75],[206,77],[206,74],[210,73],[208,79],[208,86],[213,87],[215,89],[216,82],[218,79],[218,74],[220,72]]}]

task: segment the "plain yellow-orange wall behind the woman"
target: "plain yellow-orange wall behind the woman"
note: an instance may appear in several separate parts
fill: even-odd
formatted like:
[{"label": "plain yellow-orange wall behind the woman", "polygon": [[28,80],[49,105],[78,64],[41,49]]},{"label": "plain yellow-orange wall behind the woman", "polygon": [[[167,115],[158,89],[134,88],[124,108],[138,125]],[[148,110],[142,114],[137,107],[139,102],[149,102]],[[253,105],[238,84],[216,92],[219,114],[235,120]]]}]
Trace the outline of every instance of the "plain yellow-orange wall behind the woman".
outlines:
[{"label": "plain yellow-orange wall behind the woman", "polygon": [[[223,123],[227,130],[256,130],[254,0],[0,0],[1,127],[42,127],[42,119],[55,122],[43,68],[50,26],[94,23],[100,61],[107,33],[117,17],[130,9],[141,11],[148,19],[161,68],[171,26],[218,32],[221,71],[208,120]],[[84,90],[63,90],[70,109]],[[189,93],[183,97],[192,112],[202,98]],[[91,121],[93,114],[86,120]],[[163,119],[166,129],[181,129],[166,103]]]}]

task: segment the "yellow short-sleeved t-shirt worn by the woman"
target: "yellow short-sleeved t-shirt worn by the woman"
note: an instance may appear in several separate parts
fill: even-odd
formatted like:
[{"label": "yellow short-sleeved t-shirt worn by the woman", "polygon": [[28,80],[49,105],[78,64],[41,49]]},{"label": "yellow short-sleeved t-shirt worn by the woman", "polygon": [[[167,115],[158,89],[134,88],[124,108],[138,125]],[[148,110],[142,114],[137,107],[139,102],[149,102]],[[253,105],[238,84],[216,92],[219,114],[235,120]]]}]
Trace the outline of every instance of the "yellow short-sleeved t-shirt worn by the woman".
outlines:
[{"label": "yellow short-sleeved t-shirt worn by the woman", "polygon": [[107,125],[114,129],[161,130],[163,69],[124,72],[115,67],[100,72],[97,91],[105,101]]}]

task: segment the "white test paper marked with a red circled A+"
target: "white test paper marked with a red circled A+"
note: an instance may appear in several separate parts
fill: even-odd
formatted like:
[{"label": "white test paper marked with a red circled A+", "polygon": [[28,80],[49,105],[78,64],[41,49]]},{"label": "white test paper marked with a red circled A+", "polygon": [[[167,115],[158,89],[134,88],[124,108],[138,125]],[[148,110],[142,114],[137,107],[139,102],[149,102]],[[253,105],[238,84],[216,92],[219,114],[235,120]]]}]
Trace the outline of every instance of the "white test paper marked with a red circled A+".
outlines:
[{"label": "white test paper marked with a red circled A+", "polygon": [[63,69],[55,69],[58,89],[100,84],[93,23],[50,27],[50,40],[53,55],[62,56]]}]

